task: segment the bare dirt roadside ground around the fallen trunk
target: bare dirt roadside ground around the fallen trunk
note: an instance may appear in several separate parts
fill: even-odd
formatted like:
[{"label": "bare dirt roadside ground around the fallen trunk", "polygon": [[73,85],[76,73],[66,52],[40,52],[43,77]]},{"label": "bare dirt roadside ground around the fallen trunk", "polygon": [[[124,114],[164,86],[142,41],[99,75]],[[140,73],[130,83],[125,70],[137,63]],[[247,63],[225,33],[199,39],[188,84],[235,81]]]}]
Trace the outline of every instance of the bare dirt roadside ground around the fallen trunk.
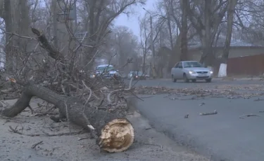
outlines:
[{"label": "bare dirt roadside ground around the fallen trunk", "polygon": [[[1,101],[4,106],[15,100]],[[34,111],[45,111],[41,99],[32,99]],[[123,153],[100,153],[88,133],[74,134],[82,129],[68,123],[54,123],[49,116],[34,116],[29,109],[13,119],[0,118],[0,160],[79,161],[79,160],[208,160],[177,146],[165,134],[152,129],[148,121],[136,111],[128,119],[136,131],[133,146]],[[20,134],[10,132],[12,127]],[[66,135],[72,132],[71,135]],[[29,135],[39,136],[29,136]],[[60,136],[61,134],[61,136]],[[35,145],[34,145],[35,144]],[[37,144],[37,145],[36,145]],[[35,146],[35,147],[34,147]]]}]

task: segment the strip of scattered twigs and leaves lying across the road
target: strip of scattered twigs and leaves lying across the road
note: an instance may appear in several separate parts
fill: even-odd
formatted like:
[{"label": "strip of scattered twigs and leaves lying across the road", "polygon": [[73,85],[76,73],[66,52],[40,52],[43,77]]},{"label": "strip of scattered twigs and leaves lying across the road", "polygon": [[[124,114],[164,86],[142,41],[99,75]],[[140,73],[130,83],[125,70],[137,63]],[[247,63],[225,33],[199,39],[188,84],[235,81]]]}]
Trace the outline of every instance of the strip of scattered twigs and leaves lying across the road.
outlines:
[{"label": "strip of scattered twigs and leaves lying across the road", "polygon": [[[194,96],[191,99],[204,99],[205,97],[226,97],[228,99],[251,99],[252,97],[263,97],[264,85],[217,85],[210,89],[202,87],[172,88],[172,87],[149,87],[140,85],[134,87],[135,94],[169,94],[168,99],[187,100],[177,97]],[[173,97],[171,97],[174,95]],[[188,98],[189,100],[189,98]],[[264,99],[256,99],[260,101]]]}]

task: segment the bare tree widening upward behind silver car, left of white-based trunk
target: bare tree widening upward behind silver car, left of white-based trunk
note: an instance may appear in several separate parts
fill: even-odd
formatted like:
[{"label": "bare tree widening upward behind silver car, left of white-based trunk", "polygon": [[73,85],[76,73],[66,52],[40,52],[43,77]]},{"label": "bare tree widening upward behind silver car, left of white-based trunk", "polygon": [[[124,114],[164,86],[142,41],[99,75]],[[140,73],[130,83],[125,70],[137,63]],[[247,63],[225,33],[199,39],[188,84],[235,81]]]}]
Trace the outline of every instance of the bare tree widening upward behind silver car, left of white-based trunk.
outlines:
[{"label": "bare tree widening upward behind silver car, left of white-based trunk", "polygon": [[[190,3],[191,2],[191,3]],[[218,27],[227,11],[227,1],[189,1],[188,18],[201,39],[203,54],[200,62],[212,66],[214,55],[211,47],[218,33]]]}]

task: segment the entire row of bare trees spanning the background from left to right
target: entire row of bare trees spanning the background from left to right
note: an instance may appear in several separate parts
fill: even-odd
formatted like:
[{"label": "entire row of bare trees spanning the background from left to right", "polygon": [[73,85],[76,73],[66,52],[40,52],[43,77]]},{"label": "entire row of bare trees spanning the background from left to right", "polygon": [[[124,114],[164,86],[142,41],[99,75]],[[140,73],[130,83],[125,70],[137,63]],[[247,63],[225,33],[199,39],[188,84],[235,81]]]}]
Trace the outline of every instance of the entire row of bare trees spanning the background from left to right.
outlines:
[{"label": "entire row of bare trees spanning the background from left to right", "polygon": [[[37,66],[43,62],[43,55],[34,55],[32,52],[39,50],[37,43],[29,38],[32,36],[32,26],[42,29],[54,47],[62,50],[69,59],[73,57],[73,52],[77,52],[75,61],[82,62],[77,64],[85,69],[91,69],[92,63],[87,65],[91,59],[92,62],[96,58],[111,59],[113,64],[121,67],[129,57],[136,61],[132,61],[134,63],[123,71],[141,68],[145,71],[146,66],[153,62],[153,55],[156,55],[153,63],[156,69],[167,68],[169,71],[175,62],[191,59],[191,55],[187,53],[193,41],[201,43],[203,54],[200,62],[213,66],[215,55],[212,48],[220,36],[226,38],[225,45],[222,46],[225,50],[220,59],[223,64],[227,64],[232,37],[246,43],[263,45],[262,1],[158,0],[155,11],[149,10],[139,18],[139,37],[128,27],[114,25],[118,15],[130,14],[132,6],[142,8],[144,3],[144,0],[79,0],[76,1],[78,23],[65,23],[61,16],[62,8],[73,6],[75,1],[1,1],[0,17],[4,22],[1,29],[2,35],[5,35],[1,42],[6,42],[6,45],[2,45],[6,47],[6,67],[10,71],[18,71],[21,69],[18,64],[31,62],[32,66]],[[76,36],[78,33],[82,34]],[[82,41],[83,45],[75,51],[76,41]],[[70,48],[65,48],[69,43]],[[27,55],[28,59],[22,61],[22,54]],[[35,57],[37,62],[32,62],[31,57]]]}]

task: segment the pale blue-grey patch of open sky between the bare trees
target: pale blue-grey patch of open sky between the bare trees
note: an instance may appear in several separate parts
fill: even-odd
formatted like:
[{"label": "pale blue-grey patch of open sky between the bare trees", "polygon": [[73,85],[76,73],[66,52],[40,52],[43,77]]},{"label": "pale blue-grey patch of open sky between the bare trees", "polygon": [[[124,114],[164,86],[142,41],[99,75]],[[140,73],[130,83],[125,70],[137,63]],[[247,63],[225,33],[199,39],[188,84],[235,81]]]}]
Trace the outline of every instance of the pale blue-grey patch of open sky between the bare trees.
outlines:
[{"label": "pale blue-grey patch of open sky between the bare trees", "polygon": [[[153,10],[155,2],[156,0],[147,0],[144,8],[146,8],[146,10]],[[131,15],[129,18],[127,18],[127,15],[125,14],[119,15],[119,17],[115,20],[115,25],[127,26],[132,29],[135,35],[139,36],[140,31],[138,17],[143,16],[146,13],[146,10],[144,10],[142,6],[135,6],[134,15]]]}]

